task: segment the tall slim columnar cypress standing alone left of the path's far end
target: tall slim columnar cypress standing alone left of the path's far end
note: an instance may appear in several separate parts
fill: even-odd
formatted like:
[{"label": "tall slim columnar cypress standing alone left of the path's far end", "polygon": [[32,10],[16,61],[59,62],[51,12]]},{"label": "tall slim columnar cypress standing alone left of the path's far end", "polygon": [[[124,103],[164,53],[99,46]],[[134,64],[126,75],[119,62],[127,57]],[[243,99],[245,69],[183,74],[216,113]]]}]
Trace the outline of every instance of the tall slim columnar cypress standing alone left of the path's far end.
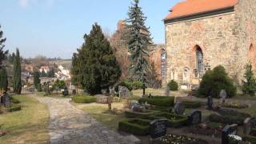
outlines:
[{"label": "tall slim columnar cypress standing alone left of the path's far end", "polygon": [[14,93],[22,93],[22,68],[18,49],[14,57]]}]

